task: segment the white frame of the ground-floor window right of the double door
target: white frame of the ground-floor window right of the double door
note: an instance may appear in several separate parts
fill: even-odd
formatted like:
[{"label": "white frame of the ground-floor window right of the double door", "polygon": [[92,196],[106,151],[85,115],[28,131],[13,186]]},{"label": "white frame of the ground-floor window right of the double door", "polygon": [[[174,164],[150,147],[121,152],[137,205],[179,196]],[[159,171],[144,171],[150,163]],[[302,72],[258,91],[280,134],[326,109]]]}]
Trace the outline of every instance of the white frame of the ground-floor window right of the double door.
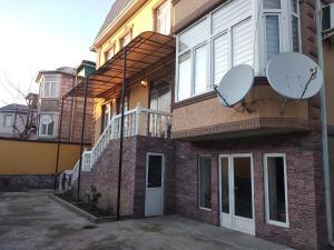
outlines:
[{"label": "white frame of the ground-floor window right of the double door", "polygon": [[[283,158],[286,222],[271,220],[271,216],[269,216],[268,158],[271,158],[271,157],[273,157],[273,158],[274,157]],[[286,154],[285,153],[265,153],[263,159],[264,159],[264,187],[265,187],[265,211],[266,211],[265,217],[266,217],[266,223],[283,227],[283,228],[289,228]]]}]

